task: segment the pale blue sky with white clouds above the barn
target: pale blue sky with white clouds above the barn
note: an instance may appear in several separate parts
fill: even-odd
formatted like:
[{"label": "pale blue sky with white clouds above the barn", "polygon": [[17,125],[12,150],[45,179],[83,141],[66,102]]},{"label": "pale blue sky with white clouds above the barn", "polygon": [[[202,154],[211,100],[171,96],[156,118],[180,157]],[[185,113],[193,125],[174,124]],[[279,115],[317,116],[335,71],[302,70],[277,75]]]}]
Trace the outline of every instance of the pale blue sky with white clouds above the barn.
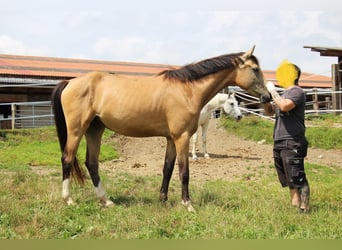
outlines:
[{"label": "pale blue sky with white clouds above the barn", "polygon": [[185,65],[249,50],[263,70],[287,59],[331,75],[341,0],[0,0],[0,53]]}]

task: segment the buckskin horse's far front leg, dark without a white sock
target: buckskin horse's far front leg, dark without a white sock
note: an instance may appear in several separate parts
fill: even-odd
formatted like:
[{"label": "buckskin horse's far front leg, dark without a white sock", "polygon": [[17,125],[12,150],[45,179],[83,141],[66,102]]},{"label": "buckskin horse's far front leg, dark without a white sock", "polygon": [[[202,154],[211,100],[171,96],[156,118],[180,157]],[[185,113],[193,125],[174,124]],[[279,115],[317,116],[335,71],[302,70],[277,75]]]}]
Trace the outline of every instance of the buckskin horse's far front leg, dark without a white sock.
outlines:
[{"label": "buckskin horse's far front leg, dark without a white sock", "polygon": [[159,199],[163,202],[167,201],[167,193],[169,190],[169,183],[172,176],[172,172],[175,166],[176,161],[176,147],[171,138],[167,138],[167,146],[164,160],[164,168],[163,168],[163,181],[162,186],[160,188],[160,196]]}]

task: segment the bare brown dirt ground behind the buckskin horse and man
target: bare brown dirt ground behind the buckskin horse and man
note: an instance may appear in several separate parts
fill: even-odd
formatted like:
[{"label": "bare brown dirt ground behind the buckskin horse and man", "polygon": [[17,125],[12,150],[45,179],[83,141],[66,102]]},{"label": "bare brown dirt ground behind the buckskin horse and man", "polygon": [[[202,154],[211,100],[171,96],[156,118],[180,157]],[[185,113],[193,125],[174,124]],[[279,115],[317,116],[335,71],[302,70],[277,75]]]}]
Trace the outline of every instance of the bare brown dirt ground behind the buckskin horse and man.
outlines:
[{"label": "bare brown dirt ground behind the buckskin horse and man", "polygon": [[[102,168],[115,172],[129,172],[137,175],[162,175],[166,139],[161,137],[115,138],[120,158],[107,162]],[[218,127],[217,120],[211,120],[207,134],[207,150],[210,159],[203,158],[201,141],[198,143],[198,160],[191,159],[190,179],[254,179],[260,174],[274,171],[272,145],[240,139]],[[342,167],[342,150],[309,148],[306,162],[325,166]],[[178,175],[175,166],[173,178]]]}]

